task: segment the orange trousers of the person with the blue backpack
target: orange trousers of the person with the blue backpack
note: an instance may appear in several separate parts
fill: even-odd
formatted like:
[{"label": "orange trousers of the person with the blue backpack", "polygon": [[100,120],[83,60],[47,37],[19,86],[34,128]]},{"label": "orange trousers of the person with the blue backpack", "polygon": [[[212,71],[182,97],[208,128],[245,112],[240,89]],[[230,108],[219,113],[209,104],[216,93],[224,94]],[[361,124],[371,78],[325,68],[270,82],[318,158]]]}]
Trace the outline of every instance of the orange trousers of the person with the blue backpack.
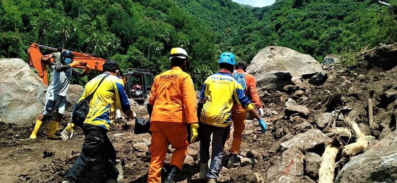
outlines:
[{"label": "orange trousers of the person with the blue backpack", "polygon": [[[233,142],[230,148],[230,153],[238,155],[241,146],[242,134],[245,128],[246,113],[243,108],[233,107],[232,108],[232,121],[233,121]],[[230,135],[229,135],[230,136]]]}]

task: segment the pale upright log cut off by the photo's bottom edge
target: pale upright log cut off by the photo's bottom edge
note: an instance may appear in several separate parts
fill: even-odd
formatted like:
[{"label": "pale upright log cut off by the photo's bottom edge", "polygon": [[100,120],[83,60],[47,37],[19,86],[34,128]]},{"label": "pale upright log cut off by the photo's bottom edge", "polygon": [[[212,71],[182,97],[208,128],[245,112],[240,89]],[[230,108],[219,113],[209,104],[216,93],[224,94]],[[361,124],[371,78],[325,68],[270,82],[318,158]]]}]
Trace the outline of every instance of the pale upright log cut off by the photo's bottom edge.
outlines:
[{"label": "pale upright log cut off by the photo's bottom edge", "polygon": [[338,146],[327,143],[321,157],[319,169],[319,183],[332,183],[335,176],[335,158],[338,153]]}]

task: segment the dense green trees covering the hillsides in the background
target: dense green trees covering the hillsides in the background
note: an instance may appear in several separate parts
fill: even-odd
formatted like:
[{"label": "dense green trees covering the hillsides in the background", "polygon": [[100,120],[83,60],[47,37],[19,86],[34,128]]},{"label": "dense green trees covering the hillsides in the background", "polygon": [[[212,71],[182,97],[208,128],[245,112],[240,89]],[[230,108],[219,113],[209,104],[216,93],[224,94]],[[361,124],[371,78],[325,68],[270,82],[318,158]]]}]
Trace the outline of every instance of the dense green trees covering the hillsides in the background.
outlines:
[{"label": "dense green trees covering the hillsides in the background", "polygon": [[2,0],[0,17],[0,57],[27,60],[37,42],[157,74],[178,46],[191,55],[197,85],[223,51],[249,62],[266,46],[287,46],[321,62],[397,41],[394,13],[374,0],[278,0],[264,8],[230,0]]}]

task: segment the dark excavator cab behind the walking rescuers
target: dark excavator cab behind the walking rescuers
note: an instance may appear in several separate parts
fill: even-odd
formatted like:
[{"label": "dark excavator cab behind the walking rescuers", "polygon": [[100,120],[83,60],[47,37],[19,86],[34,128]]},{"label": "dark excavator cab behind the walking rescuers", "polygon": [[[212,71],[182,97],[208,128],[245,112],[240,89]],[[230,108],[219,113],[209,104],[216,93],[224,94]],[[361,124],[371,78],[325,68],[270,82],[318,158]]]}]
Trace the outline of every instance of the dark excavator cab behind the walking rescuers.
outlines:
[{"label": "dark excavator cab behind the walking rescuers", "polygon": [[143,105],[148,101],[154,75],[147,69],[130,68],[124,72],[125,89],[128,98]]}]

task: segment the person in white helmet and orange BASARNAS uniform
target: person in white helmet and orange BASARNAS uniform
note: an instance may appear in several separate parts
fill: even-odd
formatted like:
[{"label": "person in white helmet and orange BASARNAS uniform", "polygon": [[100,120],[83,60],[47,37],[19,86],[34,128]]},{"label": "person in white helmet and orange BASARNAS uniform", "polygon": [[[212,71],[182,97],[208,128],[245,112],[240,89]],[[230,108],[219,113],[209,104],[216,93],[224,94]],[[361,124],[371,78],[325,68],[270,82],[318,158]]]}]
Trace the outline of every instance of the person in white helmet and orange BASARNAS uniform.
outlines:
[{"label": "person in white helmet and orange BASARNAS uniform", "polygon": [[176,182],[188,153],[187,146],[197,138],[196,94],[190,75],[184,72],[190,64],[187,52],[173,48],[169,60],[172,69],[155,77],[149,97],[148,107],[153,108],[150,119],[150,183],[161,182],[161,169],[169,143],[175,150],[165,183]]}]

